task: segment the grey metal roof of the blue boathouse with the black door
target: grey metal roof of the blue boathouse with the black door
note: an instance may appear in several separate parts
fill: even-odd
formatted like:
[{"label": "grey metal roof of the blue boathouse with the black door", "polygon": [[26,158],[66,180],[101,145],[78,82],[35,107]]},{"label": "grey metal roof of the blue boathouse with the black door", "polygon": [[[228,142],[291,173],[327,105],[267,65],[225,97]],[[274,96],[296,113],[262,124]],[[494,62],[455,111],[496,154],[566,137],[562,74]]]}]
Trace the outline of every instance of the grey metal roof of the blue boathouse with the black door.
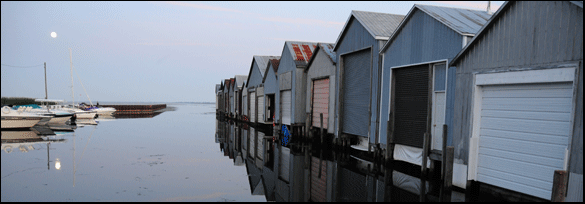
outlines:
[{"label": "grey metal roof of the blue boathouse with the black door", "polygon": [[474,35],[492,17],[486,11],[420,4],[414,7],[462,35]]}]

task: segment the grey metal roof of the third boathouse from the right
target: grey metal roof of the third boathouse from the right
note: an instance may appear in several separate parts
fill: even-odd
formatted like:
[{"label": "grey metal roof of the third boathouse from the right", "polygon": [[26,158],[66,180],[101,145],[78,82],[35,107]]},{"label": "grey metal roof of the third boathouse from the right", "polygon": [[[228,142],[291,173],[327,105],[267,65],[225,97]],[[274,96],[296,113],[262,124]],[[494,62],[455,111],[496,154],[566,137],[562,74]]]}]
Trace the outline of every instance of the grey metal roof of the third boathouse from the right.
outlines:
[{"label": "grey metal roof of the third boathouse from the right", "polygon": [[396,28],[398,28],[398,25],[400,25],[404,16],[398,14],[352,10],[339,34],[339,37],[337,37],[333,50],[337,50],[339,40],[344,36],[347,24],[352,18],[355,18],[360,24],[362,24],[376,40],[388,40]]}]

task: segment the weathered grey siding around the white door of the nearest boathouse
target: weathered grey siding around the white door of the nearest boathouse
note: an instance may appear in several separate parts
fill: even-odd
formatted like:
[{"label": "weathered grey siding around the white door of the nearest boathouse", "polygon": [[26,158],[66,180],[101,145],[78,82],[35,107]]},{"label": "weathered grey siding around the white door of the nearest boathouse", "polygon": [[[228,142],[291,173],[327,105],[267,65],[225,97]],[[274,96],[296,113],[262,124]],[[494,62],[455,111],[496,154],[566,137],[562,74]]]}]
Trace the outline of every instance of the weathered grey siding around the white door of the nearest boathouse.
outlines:
[{"label": "weathered grey siding around the white door of the nearest boathouse", "polygon": [[[509,2],[457,61],[455,160],[467,163],[473,74],[535,68],[583,60],[583,9],[570,2]],[[582,67],[579,73],[583,72]],[[579,81],[582,87],[582,80]],[[582,97],[582,92],[579,93]],[[582,103],[581,103],[582,104]],[[575,114],[582,117],[582,113]],[[461,118],[461,121],[458,119]],[[578,120],[576,120],[578,121]],[[581,126],[582,127],[582,126]],[[578,132],[578,131],[576,131]],[[574,138],[580,136],[574,136]],[[582,143],[581,147],[582,149]],[[578,169],[582,172],[582,160]],[[576,170],[576,169],[575,169]]]}]

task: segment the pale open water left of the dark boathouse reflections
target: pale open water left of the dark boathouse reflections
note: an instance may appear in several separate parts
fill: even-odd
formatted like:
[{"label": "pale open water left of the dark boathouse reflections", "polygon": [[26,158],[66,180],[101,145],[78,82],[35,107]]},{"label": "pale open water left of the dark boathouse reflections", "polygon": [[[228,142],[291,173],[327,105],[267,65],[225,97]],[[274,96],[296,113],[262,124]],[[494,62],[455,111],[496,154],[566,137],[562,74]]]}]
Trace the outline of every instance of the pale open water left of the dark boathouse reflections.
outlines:
[{"label": "pale open water left of the dark boathouse reflections", "polygon": [[2,202],[266,201],[251,195],[246,167],[215,143],[213,104],[169,106],[175,111],[153,118],[98,120],[41,137],[49,145],[33,131],[3,130],[3,148],[5,137],[33,139],[0,153]]}]

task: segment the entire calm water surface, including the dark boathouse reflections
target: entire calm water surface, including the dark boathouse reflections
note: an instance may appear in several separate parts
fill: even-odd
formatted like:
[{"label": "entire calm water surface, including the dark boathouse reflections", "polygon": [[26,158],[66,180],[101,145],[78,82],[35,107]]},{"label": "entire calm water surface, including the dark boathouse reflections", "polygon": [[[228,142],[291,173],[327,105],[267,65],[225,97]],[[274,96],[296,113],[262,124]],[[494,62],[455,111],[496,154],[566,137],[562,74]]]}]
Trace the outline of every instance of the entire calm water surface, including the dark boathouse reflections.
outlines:
[{"label": "entire calm water surface, including the dark boathouse reflections", "polygon": [[285,147],[271,130],[217,120],[214,104],[168,107],[72,132],[2,130],[2,202],[533,201],[483,185],[469,195],[446,191],[403,162],[384,167],[310,143]]}]

